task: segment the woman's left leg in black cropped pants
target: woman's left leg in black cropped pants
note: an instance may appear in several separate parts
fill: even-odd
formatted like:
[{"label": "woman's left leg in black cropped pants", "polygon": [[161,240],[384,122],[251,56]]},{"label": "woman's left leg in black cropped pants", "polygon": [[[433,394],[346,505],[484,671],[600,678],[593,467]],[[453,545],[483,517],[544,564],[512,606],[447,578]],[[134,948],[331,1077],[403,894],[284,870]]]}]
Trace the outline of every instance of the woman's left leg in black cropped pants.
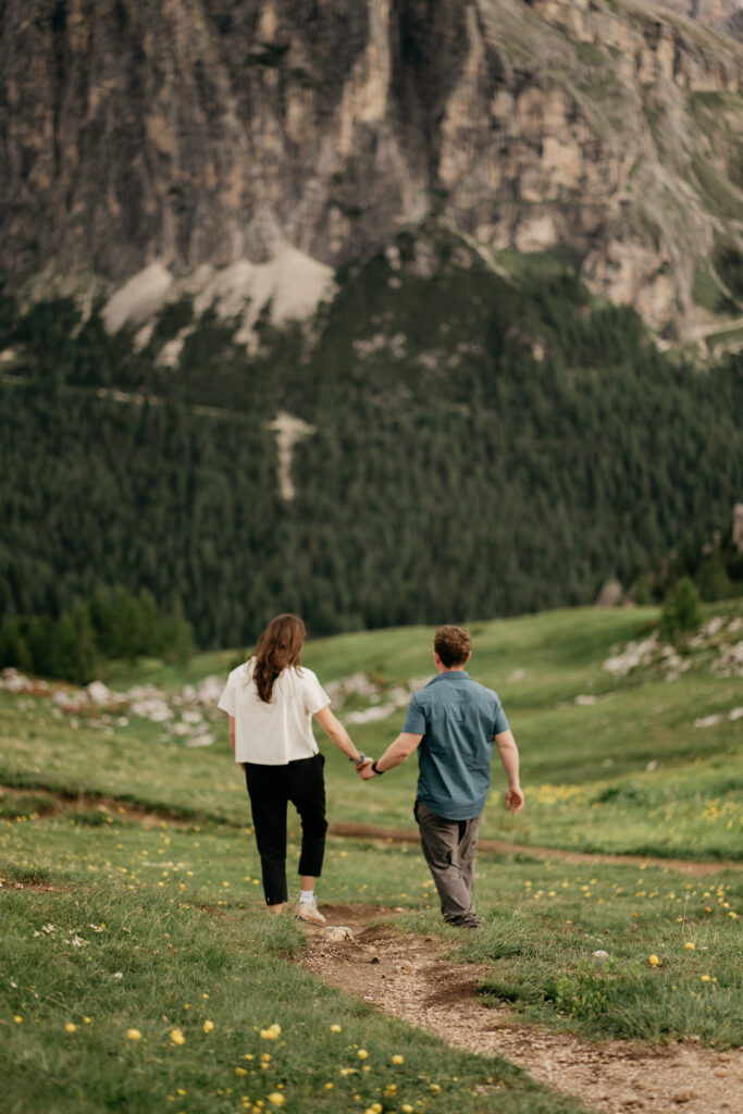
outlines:
[{"label": "woman's left leg in black cropped pants", "polygon": [[281,911],[286,890],[286,766],[245,763],[263,892],[272,912]]}]

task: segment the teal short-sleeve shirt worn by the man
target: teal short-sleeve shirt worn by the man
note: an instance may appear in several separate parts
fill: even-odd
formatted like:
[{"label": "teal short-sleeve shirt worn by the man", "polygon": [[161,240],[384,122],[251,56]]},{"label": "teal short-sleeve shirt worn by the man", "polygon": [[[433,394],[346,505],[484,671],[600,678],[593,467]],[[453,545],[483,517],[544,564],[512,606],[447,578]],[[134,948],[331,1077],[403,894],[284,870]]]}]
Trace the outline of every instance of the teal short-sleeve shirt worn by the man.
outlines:
[{"label": "teal short-sleeve shirt worn by the man", "polygon": [[412,697],[402,730],[423,736],[417,799],[447,820],[478,817],[490,789],[493,737],[508,731],[498,694],[463,670],[439,673]]}]

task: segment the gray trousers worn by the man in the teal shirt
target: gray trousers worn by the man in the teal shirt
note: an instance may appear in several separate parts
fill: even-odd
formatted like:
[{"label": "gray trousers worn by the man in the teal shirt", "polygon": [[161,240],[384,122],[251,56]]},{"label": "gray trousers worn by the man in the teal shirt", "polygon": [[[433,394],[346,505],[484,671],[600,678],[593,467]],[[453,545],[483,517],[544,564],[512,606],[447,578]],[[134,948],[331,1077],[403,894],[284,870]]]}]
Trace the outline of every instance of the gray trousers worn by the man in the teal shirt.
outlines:
[{"label": "gray trousers worn by the man in the teal shirt", "polygon": [[416,801],[421,849],[441,900],[443,919],[450,925],[477,928],[482,924],[472,905],[475,851],[480,818],[447,820],[422,801]]}]

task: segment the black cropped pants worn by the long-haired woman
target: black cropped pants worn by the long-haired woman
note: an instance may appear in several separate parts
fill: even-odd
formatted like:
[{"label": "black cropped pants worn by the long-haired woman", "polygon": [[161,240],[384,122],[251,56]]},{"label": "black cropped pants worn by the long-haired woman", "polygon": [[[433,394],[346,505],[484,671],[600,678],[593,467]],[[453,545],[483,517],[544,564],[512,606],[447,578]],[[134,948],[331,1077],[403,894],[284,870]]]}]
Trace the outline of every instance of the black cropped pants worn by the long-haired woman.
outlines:
[{"label": "black cropped pants worn by the long-haired woman", "polygon": [[266,905],[286,901],[286,807],[291,801],[302,822],[297,873],[317,878],[325,853],[324,755],[314,754],[285,765],[245,763],[255,841],[261,856]]}]

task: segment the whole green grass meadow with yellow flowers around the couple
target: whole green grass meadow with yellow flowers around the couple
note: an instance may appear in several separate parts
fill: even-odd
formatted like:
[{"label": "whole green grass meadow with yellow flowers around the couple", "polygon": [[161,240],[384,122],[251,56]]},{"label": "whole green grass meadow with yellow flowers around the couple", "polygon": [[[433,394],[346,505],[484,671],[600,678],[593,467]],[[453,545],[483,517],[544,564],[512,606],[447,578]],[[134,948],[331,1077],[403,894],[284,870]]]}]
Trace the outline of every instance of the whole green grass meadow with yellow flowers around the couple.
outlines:
[{"label": "whole green grass meadow with yellow flowers around the couple", "polygon": [[[414,844],[332,838],[321,903],[403,910],[401,932],[439,934],[454,959],[487,964],[482,1000],[516,1018],[588,1039],[741,1045],[743,871],[721,863],[692,877],[642,858],[741,860],[743,719],[730,719],[740,678],[712,674],[704,657],[675,682],[612,677],[602,668],[610,647],[656,615],[471,625],[470,673],[501,696],[527,795],[508,815],[496,772],[483,837],[636,853],[636,863],[480,852],[486,924],[465,939],[440,921]],[[363,672],[392,687],[431,672],[430,641],[424,628],[346,635],[309,644],[304,659],[325,683]],[[205,655],[187,675],[121,666],[107,682],[175,686],[226,675],[234,656]],[[378,755],[403,717],[352,735]],[[226,731],[188,750],[144,720],[109,730],[0,694],[3,1114],[580,1110],[505,1061],[453,1052],[292,965],[304,932],[263,909]],[[362,784],[323,750],[331,821],[413,827],[414,759]],[[295,825],[291,837],[294,856]]]}]

